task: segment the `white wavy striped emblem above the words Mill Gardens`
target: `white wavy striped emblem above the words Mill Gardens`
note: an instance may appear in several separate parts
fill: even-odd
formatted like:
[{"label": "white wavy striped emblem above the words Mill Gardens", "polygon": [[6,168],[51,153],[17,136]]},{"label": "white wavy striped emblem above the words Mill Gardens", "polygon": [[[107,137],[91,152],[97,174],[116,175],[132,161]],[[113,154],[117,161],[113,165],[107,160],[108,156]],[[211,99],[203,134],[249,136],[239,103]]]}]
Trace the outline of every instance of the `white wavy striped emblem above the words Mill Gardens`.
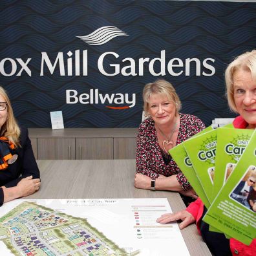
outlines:
[{"label": "white wavy striped emblem above the words Mill Gardens", "polygon": [[89,45],[103,45],[117,36],[129,36],[122,30],[112,26],[101,27],[87,36],[76,36]]}]

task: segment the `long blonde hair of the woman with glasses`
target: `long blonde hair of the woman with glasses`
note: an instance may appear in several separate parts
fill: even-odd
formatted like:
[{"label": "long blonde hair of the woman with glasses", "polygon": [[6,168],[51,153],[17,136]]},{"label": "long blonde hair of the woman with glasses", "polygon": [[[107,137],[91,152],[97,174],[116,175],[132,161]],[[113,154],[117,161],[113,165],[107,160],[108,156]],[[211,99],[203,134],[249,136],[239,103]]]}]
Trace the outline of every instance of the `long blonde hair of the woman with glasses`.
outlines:
[{"label": "long blonde hair of the woman with glasses", "polygon": [[7,118],[6,122],[0,129],[0,135],[5,136],[12,142],[16,147],[19,144],[19,135],[21,134],[21,130],[19,129],[19,125],[17,125],[16,119],[14,117],[14,111],[12,111],[12,105],[10,103],[10,99],[3,87],[0,86],[0,95],[5,99],[7,103]]}]

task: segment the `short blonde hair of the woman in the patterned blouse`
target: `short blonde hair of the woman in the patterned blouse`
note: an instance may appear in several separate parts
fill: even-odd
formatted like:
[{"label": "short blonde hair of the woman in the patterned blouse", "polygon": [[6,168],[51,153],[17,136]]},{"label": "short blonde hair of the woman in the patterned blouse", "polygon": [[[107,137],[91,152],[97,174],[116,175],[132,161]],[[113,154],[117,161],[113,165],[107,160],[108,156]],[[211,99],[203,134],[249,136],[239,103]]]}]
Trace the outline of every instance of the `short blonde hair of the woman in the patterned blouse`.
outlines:
[{"label": "short blonde hair of the woman in the patterned blouse", "polygon": [[176,107],[176,114],[181,109],[180,98],[178,98],[178,94],[171,85],[171,83],[165,80],[156,80],[153,83],[147,83],[143,89],[143,100],[144,100],[144,111],[145,114],[149,111],[149,98],[153,94],[160,94],[162,96],[166,96],[168,100],[173,101]]}]

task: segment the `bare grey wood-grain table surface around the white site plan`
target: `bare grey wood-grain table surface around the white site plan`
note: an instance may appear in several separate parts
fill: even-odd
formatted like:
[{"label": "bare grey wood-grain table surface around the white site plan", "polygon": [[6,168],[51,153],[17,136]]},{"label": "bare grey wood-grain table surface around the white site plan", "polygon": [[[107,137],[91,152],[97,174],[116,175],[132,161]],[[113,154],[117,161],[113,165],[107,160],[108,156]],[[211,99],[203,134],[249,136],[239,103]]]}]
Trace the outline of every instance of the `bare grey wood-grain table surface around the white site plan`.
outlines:
[{"label": "bare grey wood-grain table surface around the white site plan", "polygon": [[[37,164],[41,188],[27,198],[167,198],[173,212],[186,208],[176,192],[136,189],[135,160],[37,160]],[[195,224],[181,232],[192,256],[211,255]]]}]

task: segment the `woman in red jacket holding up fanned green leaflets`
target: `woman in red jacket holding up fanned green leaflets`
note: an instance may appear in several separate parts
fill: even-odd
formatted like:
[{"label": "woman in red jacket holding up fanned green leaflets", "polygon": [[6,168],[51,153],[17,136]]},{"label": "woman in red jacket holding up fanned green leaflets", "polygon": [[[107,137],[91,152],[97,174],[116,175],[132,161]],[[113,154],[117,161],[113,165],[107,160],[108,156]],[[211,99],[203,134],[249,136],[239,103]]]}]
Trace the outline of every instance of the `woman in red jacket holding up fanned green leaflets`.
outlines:
[{"label": "woman in red jacket holding up fanned green leaflets", "polygon": [[[255,129],[256,50],[241,54],[232,61],[226,69],[225,80],[229,107],[239,114],[233,121],[233,126],[237,129]],[[255,180],[252,180],[251,184],[253,182]],[[250,205],[251,208],[255,207],[253,202]],[[206,211],[204,204],[198,198],[186,210],[178,211],[177,213],[167,213],[156,221],[165,224],[181,219],[180,229],[196,222],[198,231],[213,255],[255,255],[256,239],[253,239],[250,246],[246,246],[233,238],[226,239],[222,233],[209,231],[209,225],[202,220]]]}]

